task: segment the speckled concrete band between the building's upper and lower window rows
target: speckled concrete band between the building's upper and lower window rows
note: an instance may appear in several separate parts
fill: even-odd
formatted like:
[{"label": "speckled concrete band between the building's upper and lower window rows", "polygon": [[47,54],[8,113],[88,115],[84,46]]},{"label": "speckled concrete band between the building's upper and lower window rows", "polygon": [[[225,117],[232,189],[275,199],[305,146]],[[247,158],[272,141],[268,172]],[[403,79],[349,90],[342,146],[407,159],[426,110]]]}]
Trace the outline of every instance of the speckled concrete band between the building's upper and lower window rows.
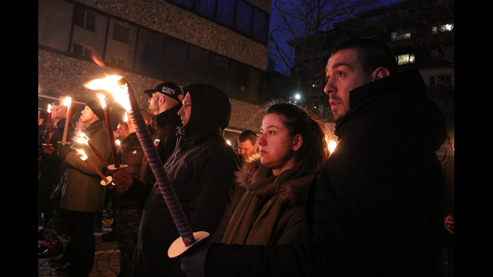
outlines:
[{"label": "speckled concrete band between the building's upper and lower window rows", "polygon": [[[267,45],[161,0],[77,0],[75,2],[148,27],[199,47],[266,69]],[[271,1],[251,0],[270,13]]]}]

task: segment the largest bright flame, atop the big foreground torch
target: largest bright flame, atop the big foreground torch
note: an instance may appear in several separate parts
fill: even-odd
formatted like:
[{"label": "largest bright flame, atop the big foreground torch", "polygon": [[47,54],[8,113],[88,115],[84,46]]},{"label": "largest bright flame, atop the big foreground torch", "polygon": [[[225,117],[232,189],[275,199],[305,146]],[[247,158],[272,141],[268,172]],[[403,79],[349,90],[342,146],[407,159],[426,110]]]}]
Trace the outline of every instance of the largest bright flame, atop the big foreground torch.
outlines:
[{"label": "largest bright flame, atop the big foreground torch", "polygon": [[132,107],[130,106],[130,98],[128,95],[128,87],[127,85],[119,85],[118,80],[121,79],[121,76],[111,75],[102,79],[95,79],[90,82],[84,84],[85,87],[89,89],[104,89],[109,91],[115,98],[115,101],[118,102],[125,111],[129,112]]}]

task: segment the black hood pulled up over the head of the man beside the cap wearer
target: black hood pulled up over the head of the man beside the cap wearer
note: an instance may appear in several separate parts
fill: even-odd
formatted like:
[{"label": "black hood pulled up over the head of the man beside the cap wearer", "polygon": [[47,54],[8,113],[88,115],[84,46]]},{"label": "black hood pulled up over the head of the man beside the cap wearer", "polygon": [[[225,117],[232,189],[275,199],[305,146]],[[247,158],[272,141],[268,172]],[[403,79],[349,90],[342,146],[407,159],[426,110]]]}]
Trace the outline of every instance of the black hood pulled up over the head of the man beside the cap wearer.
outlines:
[{"label": "black hood pulled up over the head of the man beside the cap wearer", "polygon": [[192,99],[192,113],[187,124],[179,127],[179,134],[190,144],[224,130],[231,118],[231,103],[221,89],[207,84],[184,87]]}]

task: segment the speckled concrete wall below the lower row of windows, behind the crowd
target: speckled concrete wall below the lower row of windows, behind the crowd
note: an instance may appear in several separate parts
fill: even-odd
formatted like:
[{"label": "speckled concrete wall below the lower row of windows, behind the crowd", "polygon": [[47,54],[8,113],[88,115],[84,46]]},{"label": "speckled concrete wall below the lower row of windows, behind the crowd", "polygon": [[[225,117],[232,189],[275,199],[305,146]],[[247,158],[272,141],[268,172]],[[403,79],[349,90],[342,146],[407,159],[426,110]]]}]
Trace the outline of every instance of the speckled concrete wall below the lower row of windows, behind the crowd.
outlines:
[{"label": "speckled concrete wall below the lower row of windows, behind the crowd", "polygon": [[[101,67],[91,61],[38,49],[38,106],[46,108],[45,103],[55,102],[54,99],[64,99],[67,96],[78,103],[87,103],[89,100],[97,99],[95,90],[87,89],[83,84],[93,79],[103,78],[106,74],[124,76],[135,91],[141,108],[148,108],[148,97],[142,91],[162,82],[162,80],[124,70]],[[262,124],[262,107],[234,99],[230,101],[232,115],[229,126],[234,129],[250,129],[258,132]],[[83,108],[79,105],[78,110]],[[112,120],[117,121],[117,119]]]}]

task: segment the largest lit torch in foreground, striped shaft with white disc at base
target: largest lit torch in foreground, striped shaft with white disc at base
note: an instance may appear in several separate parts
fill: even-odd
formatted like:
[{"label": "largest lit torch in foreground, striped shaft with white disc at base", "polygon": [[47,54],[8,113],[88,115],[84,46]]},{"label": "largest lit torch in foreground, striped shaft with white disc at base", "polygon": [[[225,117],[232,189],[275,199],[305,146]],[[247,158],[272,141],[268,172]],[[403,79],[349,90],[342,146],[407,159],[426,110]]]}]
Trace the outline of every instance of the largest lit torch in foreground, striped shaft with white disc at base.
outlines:
[{"label": "largest lit torch in foreground, striped shaft with white disc at base", "polygon": [[[204,233],[207,234],[206,232],[197,232],[200,234],[197,234],[197,236],[194,237],[194,233],[192,233],[192,229],[190,228],[189,222],[185,217],[182,206],[178,201],[175,190],[173,189],[168,175],[163,168],[156,147],[151,140],[149,129],[147,129],[147,126],[145,125],[145,121],[142,117],[142,113],[140,112],[137,99],[135,98],[133,91],[128,86],[126,81],[120,76],[109,76],[104,79],[94,80],[88,83],[86,87],[91,89],[106,89],[110,91],[110,93],[113,94],[115,101],[120,103],[130,116],[130,119],[135,127],[137,137],[139,138],[142,149],[144,150],[145,157],[149,161],[161,194],[165,199],[166,205],[168,206],[178,232],[180,233],[181,240],[185,245],[184,251],[188,249],[188,247],[191,247],[193,244],[195,244],[197,241],[207,237],[204,236]],[[173,253],[170,254],[171,252]],[[180,251],[172,251],[170,247],[168,255],[170,257],[175,257],[181,254],[176,254],[177,252]]]}]

